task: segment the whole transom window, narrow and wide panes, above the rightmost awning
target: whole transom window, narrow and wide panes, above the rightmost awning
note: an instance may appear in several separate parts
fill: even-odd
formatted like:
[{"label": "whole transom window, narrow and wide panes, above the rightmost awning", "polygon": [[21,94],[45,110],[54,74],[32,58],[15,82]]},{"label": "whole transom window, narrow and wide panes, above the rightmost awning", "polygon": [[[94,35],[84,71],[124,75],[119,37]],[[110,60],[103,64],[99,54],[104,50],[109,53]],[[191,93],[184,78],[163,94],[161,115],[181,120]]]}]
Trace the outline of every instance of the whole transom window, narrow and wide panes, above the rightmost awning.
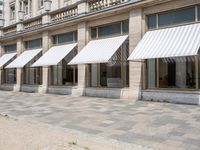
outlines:
[{"label": "whole transom window, narrow and wide panes, above the rightmost awning", "polygon": [[[200,10],[199,10],[200,11]],[[195,22],[195,6],[147,16],[148,29]],[[198,15],[199,16],[199,15]],[[199,17],[200,18],[200,17]]]}]

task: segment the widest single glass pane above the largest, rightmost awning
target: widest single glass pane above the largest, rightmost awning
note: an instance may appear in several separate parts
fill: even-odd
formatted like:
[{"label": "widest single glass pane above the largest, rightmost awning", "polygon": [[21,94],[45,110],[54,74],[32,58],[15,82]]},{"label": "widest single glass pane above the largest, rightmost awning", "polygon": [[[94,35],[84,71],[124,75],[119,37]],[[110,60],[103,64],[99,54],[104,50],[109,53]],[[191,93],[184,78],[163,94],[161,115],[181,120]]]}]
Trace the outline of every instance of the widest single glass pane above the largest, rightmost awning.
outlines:
[{"label": "widest single glass pane above the largest, rightmost awning", "polygon": [[183,8],[158,14],[159,27],[195,21],[195,7]]}]

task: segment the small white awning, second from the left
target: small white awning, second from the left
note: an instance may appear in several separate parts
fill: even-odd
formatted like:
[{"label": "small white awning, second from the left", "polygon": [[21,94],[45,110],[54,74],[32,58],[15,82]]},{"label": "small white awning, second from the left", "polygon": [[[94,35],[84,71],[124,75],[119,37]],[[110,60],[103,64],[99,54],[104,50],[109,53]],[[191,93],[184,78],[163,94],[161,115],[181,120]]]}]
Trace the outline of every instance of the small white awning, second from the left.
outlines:
[{"label": "small white awning, second from the left", "polygon": [[27,50],[17,57],[5,68],[23,68],[28,62],[30,62],[35,56],[37,56],[42,49]]}]

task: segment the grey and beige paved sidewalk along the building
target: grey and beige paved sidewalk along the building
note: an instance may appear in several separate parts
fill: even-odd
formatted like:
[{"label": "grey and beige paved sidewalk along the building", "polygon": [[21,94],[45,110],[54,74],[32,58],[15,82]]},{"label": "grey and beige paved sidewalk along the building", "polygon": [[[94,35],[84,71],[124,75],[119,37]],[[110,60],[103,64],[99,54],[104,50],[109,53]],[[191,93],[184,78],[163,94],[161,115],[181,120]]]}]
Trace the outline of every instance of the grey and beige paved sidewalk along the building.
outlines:
[{"label": "grey and beige paved sidewalk along the building", "polygon": [[200,106],[1,91],[0,113],[155,149],[200,149]]}]

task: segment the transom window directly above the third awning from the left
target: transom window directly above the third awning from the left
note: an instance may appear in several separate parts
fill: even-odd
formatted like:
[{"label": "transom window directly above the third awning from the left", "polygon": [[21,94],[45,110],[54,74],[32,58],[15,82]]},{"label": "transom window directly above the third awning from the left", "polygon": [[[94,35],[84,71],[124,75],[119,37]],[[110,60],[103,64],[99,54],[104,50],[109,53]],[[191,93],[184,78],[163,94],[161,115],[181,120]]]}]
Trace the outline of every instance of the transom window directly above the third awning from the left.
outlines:
[{"label": "transom window directly above the third awning from the left", "polygon": [[53,44],[63,44],[77,41],[77,32],[70,32],[53,36]]}]

